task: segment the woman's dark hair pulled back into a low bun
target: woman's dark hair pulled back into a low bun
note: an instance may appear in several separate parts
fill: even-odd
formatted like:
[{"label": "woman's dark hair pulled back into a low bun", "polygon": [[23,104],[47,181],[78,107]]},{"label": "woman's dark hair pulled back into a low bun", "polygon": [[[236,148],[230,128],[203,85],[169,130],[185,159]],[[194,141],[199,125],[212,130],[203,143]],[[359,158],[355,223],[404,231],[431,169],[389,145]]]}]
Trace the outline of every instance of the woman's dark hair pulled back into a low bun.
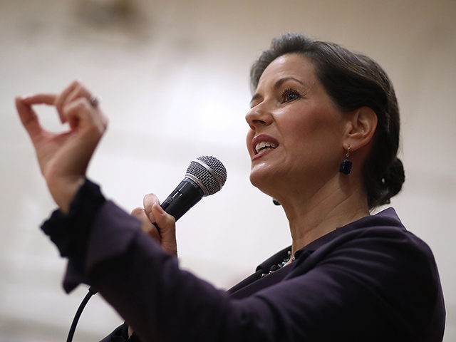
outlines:
[{"label": "woman's dark hair pulled back into a low bun", "polygon": [[316,77],[338,108],[372,108],[378,118],[371,152],[363,177],[370,209],[390,203],[405,180],[399,147],[399,108],[393,85],[385,71],[371,58],[353,53],[335,43],[315,41],[297,33],[274,38],[250,70],[250,81],[257,88],[269,63],[287,53],[299,53],[314,63]]}]

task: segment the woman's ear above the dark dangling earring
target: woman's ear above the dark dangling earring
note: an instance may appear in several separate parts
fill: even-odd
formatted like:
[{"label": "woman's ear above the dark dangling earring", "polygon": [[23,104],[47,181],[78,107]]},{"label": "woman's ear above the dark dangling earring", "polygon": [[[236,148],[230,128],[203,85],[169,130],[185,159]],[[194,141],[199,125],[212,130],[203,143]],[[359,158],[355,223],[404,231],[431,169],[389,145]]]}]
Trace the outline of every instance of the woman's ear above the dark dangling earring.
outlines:
[{"label": "woman's ear above the dark dangling earring", "polygon": [[378,118],[372,108],[361,107],[349,114],[343,147],[356,151],[368,145],[373,139],[377,128]]}]

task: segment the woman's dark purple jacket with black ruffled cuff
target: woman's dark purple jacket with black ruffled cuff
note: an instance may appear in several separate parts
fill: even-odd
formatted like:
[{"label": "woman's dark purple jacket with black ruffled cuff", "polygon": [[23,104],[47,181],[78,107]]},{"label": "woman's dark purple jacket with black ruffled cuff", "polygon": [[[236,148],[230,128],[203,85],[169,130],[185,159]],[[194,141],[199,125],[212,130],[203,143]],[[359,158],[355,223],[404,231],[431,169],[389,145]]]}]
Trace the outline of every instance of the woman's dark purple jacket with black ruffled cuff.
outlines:
[{"label": "woman's dark purple jacket with black ruffled cuff", "polygon": [[[261,277],[284,249],[229,291],[180,269],[88,181],[43,230],[68,257],[66,291],[94,286],[140,341],[442,341],[434,257],[392,208],[335,227]],[[123,341],[114,335],[103,341]]]}]

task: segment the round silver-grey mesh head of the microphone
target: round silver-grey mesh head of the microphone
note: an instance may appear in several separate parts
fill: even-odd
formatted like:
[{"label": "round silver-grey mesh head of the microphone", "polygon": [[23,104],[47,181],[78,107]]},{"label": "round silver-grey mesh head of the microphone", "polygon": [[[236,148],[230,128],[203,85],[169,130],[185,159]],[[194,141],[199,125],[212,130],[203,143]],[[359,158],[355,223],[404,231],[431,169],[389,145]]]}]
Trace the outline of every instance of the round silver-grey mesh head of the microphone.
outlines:
[{"label": "round silver-grey mesh head of the microphone", "polygon": [[216,157],[204,155],[190,162],[185,176],[201,187],[204,196],[209,196],[222,189],[227,180],[227,169]]}]

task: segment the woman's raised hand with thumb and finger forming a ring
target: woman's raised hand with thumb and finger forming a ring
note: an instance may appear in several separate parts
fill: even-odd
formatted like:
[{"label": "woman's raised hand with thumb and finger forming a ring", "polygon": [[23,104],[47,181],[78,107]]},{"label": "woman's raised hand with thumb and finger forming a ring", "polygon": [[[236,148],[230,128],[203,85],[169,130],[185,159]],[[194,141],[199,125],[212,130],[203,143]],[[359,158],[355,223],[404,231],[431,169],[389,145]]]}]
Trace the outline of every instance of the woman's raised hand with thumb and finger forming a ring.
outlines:
[{"label": "woman's raised hand with thumb and finger forming a ring", "polygon": [[[61,94],[38,93],[16,98],[16,108],[35,147],[41,173],[63,212],[68,212],[71,200],[83,184],[90,158],[108,125],[91,98],[78,81]],[[43,128],[33,110],[34,105],[41,104],[55,106],[61,123],[68,123],[68,130],[53,133]]]}]

